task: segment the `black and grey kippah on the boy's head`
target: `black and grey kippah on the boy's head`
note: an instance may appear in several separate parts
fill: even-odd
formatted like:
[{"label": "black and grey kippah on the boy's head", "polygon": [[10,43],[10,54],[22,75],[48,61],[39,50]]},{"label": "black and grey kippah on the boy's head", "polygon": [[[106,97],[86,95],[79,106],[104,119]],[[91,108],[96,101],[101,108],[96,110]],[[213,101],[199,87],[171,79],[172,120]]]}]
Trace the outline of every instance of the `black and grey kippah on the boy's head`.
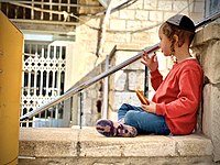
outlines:
[{"label": "black and grey kippah on the boy's head", "polygon": [[183,14],[176,14],[169,18],[166,22],[186,31],[195,32],[196,30],[194,22]]}]

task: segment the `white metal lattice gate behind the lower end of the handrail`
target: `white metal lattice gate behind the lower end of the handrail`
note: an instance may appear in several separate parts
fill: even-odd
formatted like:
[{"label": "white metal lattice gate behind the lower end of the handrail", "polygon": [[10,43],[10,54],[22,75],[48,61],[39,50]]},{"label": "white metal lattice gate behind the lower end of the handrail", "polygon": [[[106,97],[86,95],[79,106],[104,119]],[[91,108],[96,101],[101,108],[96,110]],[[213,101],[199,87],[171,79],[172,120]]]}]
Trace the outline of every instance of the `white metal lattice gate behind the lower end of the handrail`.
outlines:
[{"label": "white metal lattice gate behind the lower end of the handrail", "polygon": [[[21,116],[64,92],[66,46],[25,42],[23,57]],[[58,127],[63,107],[61,102],[21,127]]]}]

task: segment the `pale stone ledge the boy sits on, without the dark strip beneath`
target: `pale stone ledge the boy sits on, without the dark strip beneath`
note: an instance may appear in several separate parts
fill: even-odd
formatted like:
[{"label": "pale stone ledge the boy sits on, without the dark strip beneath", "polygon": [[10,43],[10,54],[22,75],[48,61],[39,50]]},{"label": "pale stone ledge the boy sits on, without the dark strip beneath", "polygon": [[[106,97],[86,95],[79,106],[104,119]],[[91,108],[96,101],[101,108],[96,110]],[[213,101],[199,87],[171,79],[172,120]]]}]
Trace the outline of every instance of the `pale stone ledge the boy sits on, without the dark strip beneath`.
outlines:
[{"label": "pale stone ledge the boy sits on, without the dark strip beneath", "polygon": [[[184,136],[139,135],[105,138],[95,128],[21,128],[19,156],[40,158],[212,158],[209,139],[191,134]],[[187,160],[187,158],[186,158]],[[193,161],[194,162],[194,161]]]}]

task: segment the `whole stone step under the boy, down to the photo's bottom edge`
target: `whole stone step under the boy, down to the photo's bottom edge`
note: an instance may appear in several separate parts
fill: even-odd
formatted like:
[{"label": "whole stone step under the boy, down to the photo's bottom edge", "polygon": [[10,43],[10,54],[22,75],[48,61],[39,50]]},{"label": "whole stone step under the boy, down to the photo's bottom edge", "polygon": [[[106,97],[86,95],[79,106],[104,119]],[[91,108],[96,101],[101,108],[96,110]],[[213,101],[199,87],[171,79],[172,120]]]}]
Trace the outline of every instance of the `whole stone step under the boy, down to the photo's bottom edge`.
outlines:
[{"label": "whole stone step under the boy, down to the photo's bottom edge", "polygon": [[200,134],[105,138],[95,128],[21,128],[19,165],[212,164]]}]

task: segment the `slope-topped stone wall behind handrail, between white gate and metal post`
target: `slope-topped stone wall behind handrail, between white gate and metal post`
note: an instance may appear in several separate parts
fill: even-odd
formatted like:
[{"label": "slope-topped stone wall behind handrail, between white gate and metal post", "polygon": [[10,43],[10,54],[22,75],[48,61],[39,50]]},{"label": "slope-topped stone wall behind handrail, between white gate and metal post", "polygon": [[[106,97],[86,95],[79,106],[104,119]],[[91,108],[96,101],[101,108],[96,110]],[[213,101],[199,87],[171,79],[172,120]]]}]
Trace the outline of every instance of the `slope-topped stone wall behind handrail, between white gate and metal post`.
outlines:
[{"label": "slope-topped stone wall behind handrail, between white gate and metal post", "polygon": [[[92,79],[94,77],[100,75],[105,72],[105,62],[99,64],[95,69],[89,72],[84,78],[81,78],[73,88],[78,87]],[[89,86],[85,90],[81,90],[73,97],[73,113],[72,113],[72,124],[80,124],[80,113],[81,125],[95,125],[96,121],[101,118],[101,108],[103,99],[103,79]],[[82,103],[82,105],[80,105]],[[81,110],[80,110],[80,106]]]}]

